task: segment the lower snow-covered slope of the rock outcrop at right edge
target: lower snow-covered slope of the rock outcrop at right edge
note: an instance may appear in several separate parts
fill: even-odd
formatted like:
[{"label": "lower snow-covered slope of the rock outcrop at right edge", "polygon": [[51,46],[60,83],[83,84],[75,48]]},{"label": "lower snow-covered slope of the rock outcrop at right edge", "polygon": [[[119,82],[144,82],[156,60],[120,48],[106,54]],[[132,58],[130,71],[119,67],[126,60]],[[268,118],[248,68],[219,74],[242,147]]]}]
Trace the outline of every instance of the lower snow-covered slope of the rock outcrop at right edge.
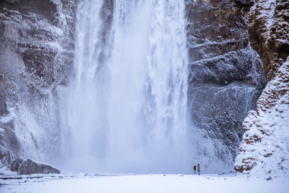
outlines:
[{"label": "lower snow-covered slope of the rock outcrop at right edge", "polygon": [[244,120],[235,160],[243,174],[289,173],[289,57]]}]

